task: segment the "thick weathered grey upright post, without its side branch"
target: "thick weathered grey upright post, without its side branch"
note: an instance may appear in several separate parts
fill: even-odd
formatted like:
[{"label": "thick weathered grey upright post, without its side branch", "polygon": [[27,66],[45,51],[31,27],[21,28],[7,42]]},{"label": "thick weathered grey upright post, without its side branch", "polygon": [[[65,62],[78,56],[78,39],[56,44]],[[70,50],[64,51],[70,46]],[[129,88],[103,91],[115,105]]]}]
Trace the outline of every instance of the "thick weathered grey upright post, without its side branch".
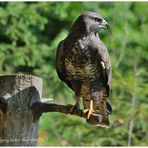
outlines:
[{"label": "thick weathered grey upright post, without its side branch", "polygon": [[42,79],[29,75],[0,77],[0,146],[36,146],[38,121],[30,106],[40,101]]}]

